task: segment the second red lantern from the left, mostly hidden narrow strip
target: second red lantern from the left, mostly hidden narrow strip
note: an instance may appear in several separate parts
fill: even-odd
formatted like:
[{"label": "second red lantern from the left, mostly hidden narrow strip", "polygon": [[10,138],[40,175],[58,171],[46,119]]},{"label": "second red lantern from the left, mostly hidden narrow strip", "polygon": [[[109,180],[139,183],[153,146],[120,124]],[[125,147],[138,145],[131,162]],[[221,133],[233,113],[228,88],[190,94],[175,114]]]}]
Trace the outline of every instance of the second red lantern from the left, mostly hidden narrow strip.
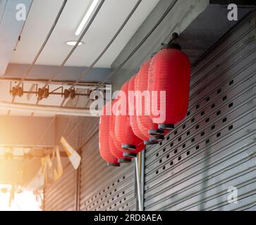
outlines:
[{"label": "second red lantern from the left, mostly hidden narrow strip", "polygon": [[131,162],[130,158],[125,158],[123,156],[123,151],[121,150],[121,143],[117,141],[116,136],[114,134],[114,127],[115,127],[115,115],[114,115],[114,103],[116,100],[111,101],[109,104],[111,104],[112,113],[109,116],[109,148],[116,158],[118,158],[118,162],[128,163]]}]

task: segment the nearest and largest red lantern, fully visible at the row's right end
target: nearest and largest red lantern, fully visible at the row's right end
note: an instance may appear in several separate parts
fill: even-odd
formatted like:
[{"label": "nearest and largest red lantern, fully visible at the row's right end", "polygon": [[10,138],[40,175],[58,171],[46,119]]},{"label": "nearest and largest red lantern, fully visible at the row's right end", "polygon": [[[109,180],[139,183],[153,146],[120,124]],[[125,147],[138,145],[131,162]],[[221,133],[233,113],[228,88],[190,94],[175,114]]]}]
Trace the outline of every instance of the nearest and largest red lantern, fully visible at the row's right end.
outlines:
[{"label": "nearest and largest red lantern, fully visible at the row's right end", "polygon": [[[164,120],[157,122],[158,128],[170,130],[181,122],[188,110],[190,89],[190,60],[178,44],[166,44],[151,60],[147,89],[157,93],[152,108],[157,107]],[[161,91],[166,93],[166,109],[161,109]],[[153,122],[156,117],[150,114]]]}]

